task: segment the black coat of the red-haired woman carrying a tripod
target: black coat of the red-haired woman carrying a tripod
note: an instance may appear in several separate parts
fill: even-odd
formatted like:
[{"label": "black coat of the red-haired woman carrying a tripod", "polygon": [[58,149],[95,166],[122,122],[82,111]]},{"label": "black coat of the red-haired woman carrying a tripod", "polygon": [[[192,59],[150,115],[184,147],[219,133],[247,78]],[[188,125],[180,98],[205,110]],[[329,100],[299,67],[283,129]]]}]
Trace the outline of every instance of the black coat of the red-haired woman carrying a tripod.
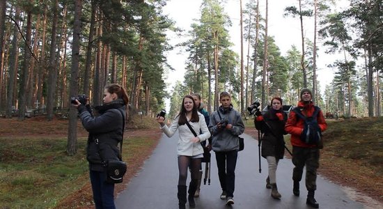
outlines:
[{"label": "black coat of the red-haired woman carrying a tripod", "polygon": [[285,153],[283,134],[286,134],[287,114],[283,111],[279,112],[283,114],[283,121],[275,116],[275,111],[267,111],[263,115],[263,121],[254,121],[256,129],[263,133],[262,157],[274,156],[276,159],[283,159]]}]

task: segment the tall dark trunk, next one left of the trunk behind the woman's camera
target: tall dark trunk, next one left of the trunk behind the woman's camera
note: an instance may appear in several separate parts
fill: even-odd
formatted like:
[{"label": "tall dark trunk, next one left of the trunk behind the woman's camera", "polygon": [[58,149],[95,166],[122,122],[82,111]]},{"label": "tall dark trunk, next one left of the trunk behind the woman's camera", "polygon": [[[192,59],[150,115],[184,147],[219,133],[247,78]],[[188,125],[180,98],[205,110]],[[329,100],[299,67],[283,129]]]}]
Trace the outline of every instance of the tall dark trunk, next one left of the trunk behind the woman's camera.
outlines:
[{"label": "tall dark trunk, next one left of the trunk behind the woman's camera", "polygon": [[53,6],[53,21],[52,21],[52,36],[51,36],[51,46],[49,50],[49,79],[48,79],[48,96],[47,96],[47,118],[49,121],[52,121],[54,117],[54,93],[56,91],[56,33],[57,33],[57,22],[58,22],[58,0],[54,1]]}]

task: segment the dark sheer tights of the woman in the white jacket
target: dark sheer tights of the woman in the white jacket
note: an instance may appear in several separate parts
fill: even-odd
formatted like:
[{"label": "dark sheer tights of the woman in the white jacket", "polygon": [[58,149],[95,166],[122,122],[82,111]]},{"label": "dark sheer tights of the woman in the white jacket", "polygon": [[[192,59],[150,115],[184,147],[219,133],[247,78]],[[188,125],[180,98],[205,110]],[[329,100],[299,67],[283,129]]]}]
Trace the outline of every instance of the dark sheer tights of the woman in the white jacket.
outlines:
[{"label": "dark sheer tights of the woman in the white jacket", "polygon": [[192,158],[185,155],[178,156],[178,171],[180,171],[178,185],[186,185],[188,167],[191,169],[192,180],[197,179],[201,168],[201,158]]}]

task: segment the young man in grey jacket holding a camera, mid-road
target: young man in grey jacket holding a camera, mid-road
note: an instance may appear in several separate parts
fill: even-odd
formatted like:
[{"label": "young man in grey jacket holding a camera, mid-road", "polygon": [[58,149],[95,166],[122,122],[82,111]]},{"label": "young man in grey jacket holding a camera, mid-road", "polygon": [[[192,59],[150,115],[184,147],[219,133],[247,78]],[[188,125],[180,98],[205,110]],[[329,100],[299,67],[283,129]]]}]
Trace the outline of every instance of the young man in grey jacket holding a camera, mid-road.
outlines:
[{"label": "young man in grey jacket holding a camera, mid-road", "polygon": [[212,150],[217,160],[219,183],[227,205],[234,204],[235,166],[240,148],[238,136],[244,132],[241,114],[233,109],[230,94],[219,95],[221,106],[210,116],[209,129],[212,133]]}]

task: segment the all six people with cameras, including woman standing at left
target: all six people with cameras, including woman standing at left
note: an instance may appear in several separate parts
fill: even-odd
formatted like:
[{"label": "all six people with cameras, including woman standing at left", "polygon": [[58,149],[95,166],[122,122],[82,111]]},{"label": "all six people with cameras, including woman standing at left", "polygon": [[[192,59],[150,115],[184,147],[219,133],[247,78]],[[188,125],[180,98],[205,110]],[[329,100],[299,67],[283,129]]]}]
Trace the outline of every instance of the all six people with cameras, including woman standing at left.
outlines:
[{"label": "all six people with cameras, including woman standing at left", "polygon": [[[317,169],[319,167],[319,146],[302,141],[302,135],[306,134],[306,121],[297,115],[311,117],[315,115],[320,131],[325,131],[327,124],[322,111],[317,110],[312,99],[312,93],[308,88],[303,88],[300,93],[300,101],[296,109],[290,111],[290,115],[282,111],[282,99],[272,98],[271,107],[262,114],[256,111],[256,129],[263,133],[262,156],[268,164],[268,177],[266,187],[271,188],[271,196],[280,199],[276,187],[276,168],[279,160],[283,159],[285,141],[284,134],[291,134],[292,163],[295,165],[292,173],[295,196],[299,196],[299,182],[302,180],[303,169],[306,166],[306,189],[308,190],[306,203],[308,206],[318,208],[319,204],[314,198],[316,190]],[[220,199],[225,199],[227,205],[234,204],[235,190],[235,167],[239,151],[238,136],[244,132],[244,123],[240,112],[233,109],[231,96],[227,92],[219,95],[221,106],[217,111],[208,112],[203,109],[201,96],[197,93],[185,95],[182,99],[180,113],[175,116],[168,126],[164,123],[165,118],[157,116],[157,122],[162,131],[171,137],[178,130],[178,206],[194,208],[195,197],[198,197],[202,178],[201,159],[204,147],[213,150],[217,160],[219,183],[221,185]],[[119,147],[123,140],[125,109],[128,97],[125,89],[118,84],[110,84],[104,88],[104,104],[95,107],[97,116],[93,116],[89,101],[81,103],[75,100],[73,107],[79,111],[81,123],[89,132],[88,146],[86,148],[87,160],[93,200],[95,208],[116,208],[114,204],[114,184],[108,183],[104,164],[108,160],[121,159]],[[208,143],[206,143],[208,141]],[[191,181],[187,189],[187,173],[190,170]]]}]

